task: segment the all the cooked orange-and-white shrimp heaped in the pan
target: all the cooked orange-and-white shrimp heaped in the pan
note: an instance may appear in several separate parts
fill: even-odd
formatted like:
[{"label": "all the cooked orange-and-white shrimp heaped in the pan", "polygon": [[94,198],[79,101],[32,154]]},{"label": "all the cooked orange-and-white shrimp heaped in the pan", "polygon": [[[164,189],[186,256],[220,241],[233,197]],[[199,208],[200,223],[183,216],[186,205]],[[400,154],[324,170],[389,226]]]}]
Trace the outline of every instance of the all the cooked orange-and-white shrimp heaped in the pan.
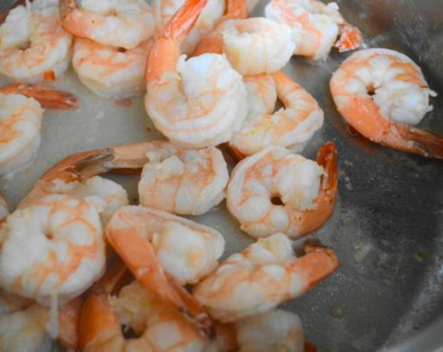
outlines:
[{"label": "all the cooked orange-and-white shrimp heaped in the pan", "polygon": [[[144,94],[166,138],[69,155],[13,211],[0,191],[0,350],[316,350],[278,306],[339,267],[318,240],[293,242],[334,213],[338,151],[299,154],[324,114],[283,70],[363,36],[335,3],[271,0],[249,17],[255,3],[35,0],[5,17],[0,73],[17,82],[0,88],[1,182],[32,162],[44,108],[78,107],[41,85],[70,63],[101,97]],[[357,50],[330,89],[361,135],[443,159],[443,138],[411,126],[435,92],[404,54]],[[122,171],[138,179],[136,204],[103,177]],[[224,204],[252,238],[237,253],[188,218]]]}]

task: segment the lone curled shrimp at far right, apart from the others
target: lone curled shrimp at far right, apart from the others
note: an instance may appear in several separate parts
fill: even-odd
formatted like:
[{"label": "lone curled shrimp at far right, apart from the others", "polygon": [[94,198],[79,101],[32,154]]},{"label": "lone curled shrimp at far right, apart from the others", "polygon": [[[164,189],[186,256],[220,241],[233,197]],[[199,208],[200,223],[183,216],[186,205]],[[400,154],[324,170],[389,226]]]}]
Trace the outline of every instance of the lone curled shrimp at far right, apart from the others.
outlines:
[{"label": "lone curled shrimp at far right, apart from the others", "polygon": [[330,81],[338,111],[359,133],[386,147],[443,158],[443,137],[415,125],[432,110],[420,67],[389,49],[360,50],[347,58]]}]

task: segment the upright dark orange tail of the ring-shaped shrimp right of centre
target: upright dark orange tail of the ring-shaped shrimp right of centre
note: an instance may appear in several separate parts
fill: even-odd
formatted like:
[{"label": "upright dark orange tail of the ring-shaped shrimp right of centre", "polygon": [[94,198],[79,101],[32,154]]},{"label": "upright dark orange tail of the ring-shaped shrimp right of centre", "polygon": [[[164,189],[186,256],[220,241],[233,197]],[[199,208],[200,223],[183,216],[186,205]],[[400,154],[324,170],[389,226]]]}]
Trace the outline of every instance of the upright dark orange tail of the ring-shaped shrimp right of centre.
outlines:
[{"label": "upright dark orange tail of the ring-shaped shrimp right of centre", "polygon": [[307,210],[303,217],[300,235],[306,235],[320,226],[334,213],[335,197],[338,188],[337,149],[332,142],[325,143],[317,153],[317,163],[323,167],[319,196],[315,199],[315,208]]}]

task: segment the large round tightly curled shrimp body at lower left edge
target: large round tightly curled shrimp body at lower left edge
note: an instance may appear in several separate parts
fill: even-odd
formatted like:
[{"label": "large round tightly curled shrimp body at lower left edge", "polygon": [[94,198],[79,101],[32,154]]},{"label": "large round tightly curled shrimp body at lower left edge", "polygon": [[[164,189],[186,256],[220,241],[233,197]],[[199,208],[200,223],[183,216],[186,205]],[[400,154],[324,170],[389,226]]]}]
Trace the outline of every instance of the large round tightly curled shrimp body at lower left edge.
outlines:
[{"label": "large round tightly curled shrimp body at lower left edge", "polygon": [[9,215],[0,239],[0,285],[43,305],[78,296],[105,267],[100,218],[84,200],[43,197]]}]

